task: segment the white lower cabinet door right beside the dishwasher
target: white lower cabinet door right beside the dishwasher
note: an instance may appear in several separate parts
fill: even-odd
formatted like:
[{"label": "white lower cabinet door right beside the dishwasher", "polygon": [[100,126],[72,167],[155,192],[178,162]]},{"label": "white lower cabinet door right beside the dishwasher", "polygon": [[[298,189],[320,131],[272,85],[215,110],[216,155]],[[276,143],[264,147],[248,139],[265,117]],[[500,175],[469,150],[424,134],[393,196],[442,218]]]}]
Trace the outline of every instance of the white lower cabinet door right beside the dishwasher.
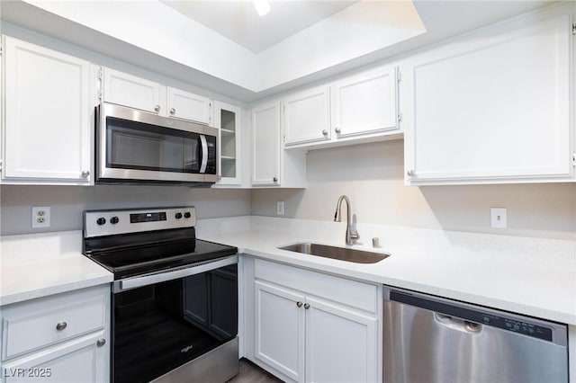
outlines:
[{"label": "white lower cabinet door right beside the dishwasher", "polygon": [[375,382],[378,318],[317,298],[306,303],[306,381]]}]

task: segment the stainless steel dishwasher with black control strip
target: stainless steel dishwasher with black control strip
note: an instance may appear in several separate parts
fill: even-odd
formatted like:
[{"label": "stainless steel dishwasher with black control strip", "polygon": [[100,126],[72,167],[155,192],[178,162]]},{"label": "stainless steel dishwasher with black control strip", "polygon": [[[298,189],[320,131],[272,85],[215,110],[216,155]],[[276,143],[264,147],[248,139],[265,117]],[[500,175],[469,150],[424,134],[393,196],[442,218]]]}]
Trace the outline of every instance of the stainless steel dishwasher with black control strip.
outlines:
[{"label": "stainless steel dishwasher with black control strip", "polygon": [[566,383],[566,325],[384,286],[384,383]]}]

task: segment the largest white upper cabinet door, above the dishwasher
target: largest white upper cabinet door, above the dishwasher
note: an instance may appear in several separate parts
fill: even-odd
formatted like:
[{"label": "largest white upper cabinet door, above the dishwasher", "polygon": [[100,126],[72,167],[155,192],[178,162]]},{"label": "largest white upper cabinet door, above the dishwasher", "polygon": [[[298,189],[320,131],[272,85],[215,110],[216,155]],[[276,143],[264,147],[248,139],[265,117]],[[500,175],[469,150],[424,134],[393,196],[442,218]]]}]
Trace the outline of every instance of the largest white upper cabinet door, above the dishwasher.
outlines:
[{"label": "largest white upper cabinet door, above the dishwasher", "polygon": [[572,174],[570,17],[518,23],[410,62],[407,183],[529,182]]}]

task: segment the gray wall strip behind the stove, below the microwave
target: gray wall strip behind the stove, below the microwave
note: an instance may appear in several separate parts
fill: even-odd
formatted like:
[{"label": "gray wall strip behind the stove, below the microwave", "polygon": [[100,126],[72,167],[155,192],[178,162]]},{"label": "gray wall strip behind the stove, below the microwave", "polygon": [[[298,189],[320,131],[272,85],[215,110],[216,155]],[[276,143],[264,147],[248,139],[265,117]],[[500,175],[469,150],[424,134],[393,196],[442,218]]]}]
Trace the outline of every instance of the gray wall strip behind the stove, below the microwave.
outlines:
[{"label": "gray wall strip behind the stove, below the microwave", "polygon": [[[193,189],[180,186],[34,186],[0,187],[2,236],[81,230],[86,209],[124,209],[193,205],[198,218],[250,214],[249,190]],[[31,228],[31,206],[49,206],[47,228]]]}]

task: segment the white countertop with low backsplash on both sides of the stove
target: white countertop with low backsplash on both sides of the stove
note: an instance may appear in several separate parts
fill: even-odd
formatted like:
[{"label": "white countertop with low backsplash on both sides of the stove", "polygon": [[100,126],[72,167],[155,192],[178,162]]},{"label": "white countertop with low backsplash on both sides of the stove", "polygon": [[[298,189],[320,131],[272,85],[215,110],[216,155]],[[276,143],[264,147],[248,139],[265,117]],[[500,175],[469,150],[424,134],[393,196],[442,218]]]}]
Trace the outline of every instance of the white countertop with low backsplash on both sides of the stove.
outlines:
[{"label": "white countertop with low backsplash on both sides of the stove", "polygon": [[[252,216],[201,219],[197,236],[280,263],[576,325],[574,241],[358,225],[365,245],[355,248],[392,256],[362,264],[277,248],[344,246],[345,230],[344,223]],[[372,237],[382,248],[366,246]],[[0,304],[111,282],[81,244],[81,231],[2,237]]]}]

